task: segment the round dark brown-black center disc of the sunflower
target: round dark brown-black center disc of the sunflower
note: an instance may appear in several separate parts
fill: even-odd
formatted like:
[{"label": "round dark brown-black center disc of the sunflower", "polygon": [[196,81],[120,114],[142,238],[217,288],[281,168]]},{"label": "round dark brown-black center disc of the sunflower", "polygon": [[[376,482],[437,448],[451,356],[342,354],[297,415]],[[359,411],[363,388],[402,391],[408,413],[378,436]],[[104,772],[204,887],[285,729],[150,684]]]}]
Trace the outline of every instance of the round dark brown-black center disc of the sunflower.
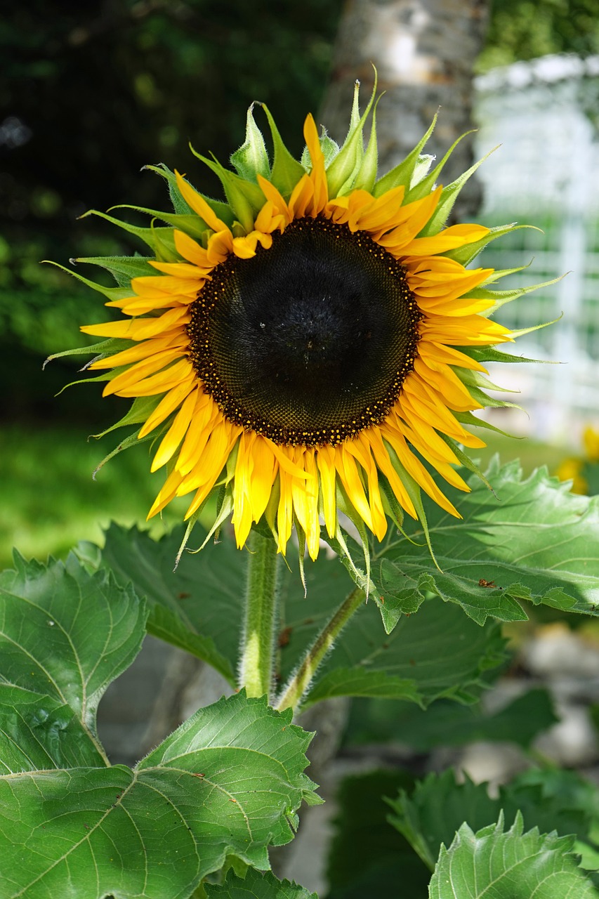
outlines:
[{"label": "round dark brown-black center disc of the sunflower", "polygon": [[229,421],[279,444],[335,444],[378,424],[414,368],[406,272],[364,232],[299,218],[231,255],[192,303],[190,356]]}]

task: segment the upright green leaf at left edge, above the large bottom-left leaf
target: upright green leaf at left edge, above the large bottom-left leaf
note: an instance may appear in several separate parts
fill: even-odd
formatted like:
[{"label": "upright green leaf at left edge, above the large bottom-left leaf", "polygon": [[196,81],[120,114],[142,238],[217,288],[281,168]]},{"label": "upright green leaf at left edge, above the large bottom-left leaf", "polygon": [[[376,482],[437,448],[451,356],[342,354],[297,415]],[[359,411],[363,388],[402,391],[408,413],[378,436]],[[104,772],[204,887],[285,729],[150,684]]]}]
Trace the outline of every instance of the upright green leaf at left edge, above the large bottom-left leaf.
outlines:
[{"label": "upright green leaf at left edge, above the large bottom-left leaf", "polygon": [[96,709],[139,653],[145,604],[75,556],[14,561],[0,575],[0,770],[104,765]]}]

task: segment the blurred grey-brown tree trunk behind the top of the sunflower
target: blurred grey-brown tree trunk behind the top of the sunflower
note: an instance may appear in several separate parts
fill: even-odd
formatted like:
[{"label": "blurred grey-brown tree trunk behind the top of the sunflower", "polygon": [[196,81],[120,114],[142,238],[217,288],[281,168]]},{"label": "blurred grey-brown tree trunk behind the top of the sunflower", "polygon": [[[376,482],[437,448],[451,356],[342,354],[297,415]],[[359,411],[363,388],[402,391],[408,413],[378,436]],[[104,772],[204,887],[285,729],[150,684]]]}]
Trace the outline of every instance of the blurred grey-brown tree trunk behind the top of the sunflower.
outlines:
[{"label": "blurred grey-brown tree trunk behind the top of the sunflower", "polygon": [[[344,139],[356,78],[364,98],[379,74],[386,95],[377,110],[380,172],[389,171],[422,138],[441,107],[425,152],[441,159],[472,128],[472,70],[487,29],[487,0],[348,0],[337,35],[334,68],[320,120]],[[465,138],[443,170],[447,184],[472,164]],[[476,212],[480,191],[471,179],[456,218]]]}]

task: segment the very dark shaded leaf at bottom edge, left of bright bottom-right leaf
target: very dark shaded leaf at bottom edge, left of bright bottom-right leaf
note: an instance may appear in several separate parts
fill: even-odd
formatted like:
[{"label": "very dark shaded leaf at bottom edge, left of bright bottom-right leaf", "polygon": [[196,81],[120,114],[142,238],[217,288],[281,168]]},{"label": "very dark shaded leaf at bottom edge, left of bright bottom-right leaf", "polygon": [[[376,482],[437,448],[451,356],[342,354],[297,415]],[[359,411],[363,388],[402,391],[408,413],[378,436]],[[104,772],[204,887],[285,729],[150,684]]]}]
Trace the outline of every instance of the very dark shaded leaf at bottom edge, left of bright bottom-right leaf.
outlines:
[{"label": "very dark shaded leaf at bottom edge, left of bright bottom-right leaf", "polygon": [[[328,856],[326,899],[422,899],[430,871],[388,821],[383,799],[414,787],[403,770],[369,771],[344,778],[337,791],[334,836]],[[398,894],[398,884],[401,893]]]}]

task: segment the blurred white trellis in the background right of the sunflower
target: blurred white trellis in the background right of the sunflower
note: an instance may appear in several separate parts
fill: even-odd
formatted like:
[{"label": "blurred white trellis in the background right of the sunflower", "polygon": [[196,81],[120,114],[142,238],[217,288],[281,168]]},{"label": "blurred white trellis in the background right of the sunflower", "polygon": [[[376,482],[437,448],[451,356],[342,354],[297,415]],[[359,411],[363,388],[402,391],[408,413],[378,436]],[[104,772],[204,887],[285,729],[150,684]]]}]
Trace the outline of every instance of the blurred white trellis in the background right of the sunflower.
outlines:
[{"label": "blurred white trellis in the background right of the sunflower", "polygon": [[[489,245],[481,263],[529,265],[506,286],[568,272],[501,316],[513,328],[563,316],[517,344],[520,354],[561,364],[518,366],[507,378],[522,391],[518,402],[530,411],[536,436],[576,444],[585,423],[599,425],[599,57],[516,63],[479,76],[476,91],[478,153],[503,145],[478,170],[481,220],[542,229],[518,230]],[[505,371],[495,374],[510,386]],[[526,422],[522,416],[516,426],[525,430]]]}]

